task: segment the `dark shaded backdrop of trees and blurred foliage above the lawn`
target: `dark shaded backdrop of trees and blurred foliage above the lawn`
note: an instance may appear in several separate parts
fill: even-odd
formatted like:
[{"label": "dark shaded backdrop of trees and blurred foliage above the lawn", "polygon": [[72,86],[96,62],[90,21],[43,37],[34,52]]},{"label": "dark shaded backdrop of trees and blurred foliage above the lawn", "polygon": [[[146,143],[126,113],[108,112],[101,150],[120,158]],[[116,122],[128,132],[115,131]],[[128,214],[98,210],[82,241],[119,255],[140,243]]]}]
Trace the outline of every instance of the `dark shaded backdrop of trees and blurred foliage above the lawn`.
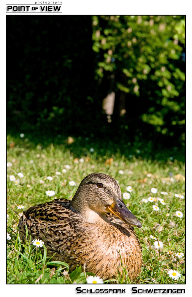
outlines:
[{"label": "dark shaded backdrop of trees and blurred foliage above the lawn", "polygon": [[184,43],[182,15],[7,16],[8,132],[184,144]]}]

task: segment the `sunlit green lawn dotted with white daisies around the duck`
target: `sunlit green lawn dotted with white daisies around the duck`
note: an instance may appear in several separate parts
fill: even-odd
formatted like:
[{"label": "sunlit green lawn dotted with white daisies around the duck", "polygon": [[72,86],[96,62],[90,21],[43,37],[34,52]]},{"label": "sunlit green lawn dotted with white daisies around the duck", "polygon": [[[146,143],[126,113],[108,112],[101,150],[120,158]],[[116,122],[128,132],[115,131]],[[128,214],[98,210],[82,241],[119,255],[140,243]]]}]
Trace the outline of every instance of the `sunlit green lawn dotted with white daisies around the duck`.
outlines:
[{"label": "sunlit green lawn dotted with white daisies around the duck", "polygon": [[[9,284],[34,284],[34,283],[86,283],[88,272],[81,272],[77,267],[69,273],[69,265],[63,262],[53,262],[47,257],[46,247],[44,253],[26,243],[21,244],[18,233],[18,220],[22,209],[29,206],[50,201],[54,198],[72,199],[77,186],[83,177],[92,172],[106,173],[115,178],[120,185],[122,194],[126,187],[131,186],[130,199],[124,200],[128,208],[142,222],[142,228],[135,227],[137,236],[142,244],[143,264],[141,274],[135,283],[185,283],[184,257],[176,257],[176,253],[185,252],[185,199],[176,198],[175,194],[185,194],[184,164],[177,159],[164,158],[162,161],[151,160],[139,156],[137,147],[131,147],[135,155],[121,155],[120,151],[111,153],[110,147],[103,154],[98,147],[91,153],[88,148],[77,148],[78,153],[70,149],[69,143],[34,145],[26,138],[7,137],[7,162],[12,166],[7,167],[7,283]],[[76,143],[77,146],[77,143]],[[91,145],[90,145],[91,148]],[[162,152],[163,154],[163,152]],[[83,158],[84,162],[79,162]],[[62,173],[65,165],[66,169]],[[123,170],[123,174],[119,173]],[[61,172],[56,175],[55,172]],[[23,177],[17,174],[23,173]],[[13,175],[19,179],[18,183],[10,181]],[[51,176],[53,180],[47,180]],[[76,186],[70,186],[69,181],[75,181]],[[156,194],[151,188],[158,189]],[[55,191],[53,197],[46,195],[47,190]],[[166,191],[168,195],[162,195]],[[156,201],[147,203],[142,199],[152,196]],[[157,198],[163,198],[165,204]],[[153,205],[160,210],[154,211]],[[183,217],[177,217],[176,211],[181,211]],[[153,248],[155,236],[163,243],[163,248]],[[173,280],[168,275],[168,270],[175,269],[181,277]],[[114,283],[130,283],[126,269],[124,276],[113,280]]]}]

